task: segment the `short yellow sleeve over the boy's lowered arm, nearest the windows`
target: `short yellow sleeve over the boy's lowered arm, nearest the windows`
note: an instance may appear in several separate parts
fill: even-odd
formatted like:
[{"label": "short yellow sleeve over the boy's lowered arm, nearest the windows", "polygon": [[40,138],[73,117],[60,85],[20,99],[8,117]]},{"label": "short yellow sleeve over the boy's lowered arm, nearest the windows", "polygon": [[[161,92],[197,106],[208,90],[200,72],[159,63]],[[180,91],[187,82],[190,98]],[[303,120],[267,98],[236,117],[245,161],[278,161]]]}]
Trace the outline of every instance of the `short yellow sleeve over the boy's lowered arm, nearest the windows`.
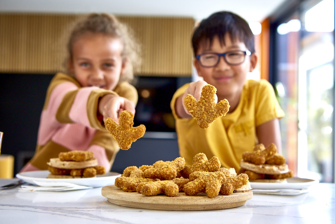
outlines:
[{"label": "short yellow sleeve over the boy's lowered arm, nearest the windows", "polygon": [[281,119],[285,116],[284,111],[278,103],[272,85],[266,80],[260,81],[256,104],[256,126],[275,118]]}]

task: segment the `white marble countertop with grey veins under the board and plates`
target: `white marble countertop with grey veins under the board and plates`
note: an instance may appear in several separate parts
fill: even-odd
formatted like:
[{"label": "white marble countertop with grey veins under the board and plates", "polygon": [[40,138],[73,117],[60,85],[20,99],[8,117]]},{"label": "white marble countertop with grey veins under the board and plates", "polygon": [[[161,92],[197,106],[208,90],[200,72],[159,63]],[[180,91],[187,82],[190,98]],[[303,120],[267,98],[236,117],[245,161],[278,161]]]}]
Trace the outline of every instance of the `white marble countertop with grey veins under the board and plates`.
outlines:
[{"label": "white marble countertop with grey veins under the board and plates", "polygon": [[335,184],[294,195],[255,194],[246,204],[211,211],[160,211],[111,204],[101,187],[63,192],[0,190],[0,223],[335,223]]}]

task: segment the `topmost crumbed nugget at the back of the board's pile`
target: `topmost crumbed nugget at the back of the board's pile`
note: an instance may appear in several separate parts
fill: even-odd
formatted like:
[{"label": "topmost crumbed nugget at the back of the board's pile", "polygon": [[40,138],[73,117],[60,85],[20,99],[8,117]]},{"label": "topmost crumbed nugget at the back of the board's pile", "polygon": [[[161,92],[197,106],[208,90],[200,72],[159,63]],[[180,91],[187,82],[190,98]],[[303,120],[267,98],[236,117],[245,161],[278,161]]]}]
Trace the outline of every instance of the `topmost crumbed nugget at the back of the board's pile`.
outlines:
[{"label": "topmost crumbed nugget at the back of the board's pile", "polygon": [[220,167],[221,162],[216,156],[208,160],[205,153],[198,153],[193,157],[192,165],[186,165],[180,174],[185,178],[189,178],[190,174],[195,171],[214,172],[219,171]]}]

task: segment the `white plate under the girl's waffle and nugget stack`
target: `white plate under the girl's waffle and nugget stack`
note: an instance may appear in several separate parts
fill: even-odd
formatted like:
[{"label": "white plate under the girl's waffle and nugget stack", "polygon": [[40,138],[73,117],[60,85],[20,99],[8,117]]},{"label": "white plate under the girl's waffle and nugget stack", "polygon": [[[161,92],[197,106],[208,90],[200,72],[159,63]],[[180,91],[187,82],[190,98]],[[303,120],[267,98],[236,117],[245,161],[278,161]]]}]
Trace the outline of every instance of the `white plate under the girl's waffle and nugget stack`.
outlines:
[{"label": "white plate under the girl's waffle and nugget stack", "polygon": [[[82,186],[89,187],[103,187],[106,185],[114,184],[115,179],[121,174],[110,172],[104,175],[96,175],[96,177],[90,178],[47,178],[50,172],[48,170],[40,171],[28,171],[16,174],[16,177],[30,184],[34,184],[34,181],[44,181],[44,182],[66,182],[73,183]],[[34,184],[35,185],[35,184]]]}]

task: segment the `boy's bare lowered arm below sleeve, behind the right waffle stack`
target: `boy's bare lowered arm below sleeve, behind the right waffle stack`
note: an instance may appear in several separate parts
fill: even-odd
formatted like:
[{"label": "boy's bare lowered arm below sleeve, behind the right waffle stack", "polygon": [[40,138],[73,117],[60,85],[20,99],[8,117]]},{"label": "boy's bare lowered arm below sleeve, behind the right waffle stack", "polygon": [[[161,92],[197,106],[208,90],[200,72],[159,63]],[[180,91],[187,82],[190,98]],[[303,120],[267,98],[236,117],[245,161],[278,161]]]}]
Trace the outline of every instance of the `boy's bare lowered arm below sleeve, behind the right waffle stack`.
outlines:
[{"label": "boy's bare lowered arm below sleeve, behind the right waffle stack", "polygon": [[268,121],[260,126],[256,127],[256,134],[258,137],[258,143],[262,143],[265,147],[271,143],[277,146],[277,152],[281,151],[281,135],[278,118]]}]

